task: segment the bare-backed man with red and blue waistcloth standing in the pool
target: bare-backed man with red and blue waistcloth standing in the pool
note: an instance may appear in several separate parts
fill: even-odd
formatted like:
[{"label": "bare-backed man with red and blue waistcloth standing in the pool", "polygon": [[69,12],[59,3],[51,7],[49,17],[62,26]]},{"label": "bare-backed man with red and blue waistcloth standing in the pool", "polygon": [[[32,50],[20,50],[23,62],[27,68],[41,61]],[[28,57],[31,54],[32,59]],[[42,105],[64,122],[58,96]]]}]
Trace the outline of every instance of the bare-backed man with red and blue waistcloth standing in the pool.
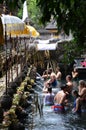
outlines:
[{"label": "bare-backed man with red and blue waistcloth standing in the pool", "polygon": [[58,111],[62,112],[65,110],[64,106],[66,106],[68,103],[67,95],[68,95],[67,85],[65,84],[61,86],[61,90],[57,92],[54,98],[56,104],[53,106],[53,109],[55,112],[58,112]]}]

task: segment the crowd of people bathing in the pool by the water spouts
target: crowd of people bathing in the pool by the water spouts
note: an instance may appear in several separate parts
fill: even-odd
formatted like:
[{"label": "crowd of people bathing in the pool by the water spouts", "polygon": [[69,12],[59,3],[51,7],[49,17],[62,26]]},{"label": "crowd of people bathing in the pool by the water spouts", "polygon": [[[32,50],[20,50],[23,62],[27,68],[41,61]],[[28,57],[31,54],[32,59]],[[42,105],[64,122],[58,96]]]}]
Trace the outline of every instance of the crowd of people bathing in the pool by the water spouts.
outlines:
[{"label": "crowd of people bathing in the pool by the water spouts", "polygon": [[75,68],[71,75],[65,77],[64,84],[61,80],[62,72],[59,67],[56,68],[56,72],[53,72],[51,68],[49,71],[46,70],[42,77],[45,80],[44,105],[51,106],[55,112],[63,112],[65,107],[69,107],[71,104],[73,113],[86,112],[86,81],[77,80],[78,72]]}]

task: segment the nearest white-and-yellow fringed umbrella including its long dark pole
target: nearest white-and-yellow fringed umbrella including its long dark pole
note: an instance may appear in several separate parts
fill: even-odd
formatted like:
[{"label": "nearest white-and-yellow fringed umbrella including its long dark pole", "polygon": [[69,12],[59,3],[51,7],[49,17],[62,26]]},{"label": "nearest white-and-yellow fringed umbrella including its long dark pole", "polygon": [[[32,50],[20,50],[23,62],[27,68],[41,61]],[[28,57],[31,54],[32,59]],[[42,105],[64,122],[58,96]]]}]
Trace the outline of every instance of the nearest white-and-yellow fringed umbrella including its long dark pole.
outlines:
[{"label": "nearest white-and-yellow fringed umbrella including its long dark pole", "polygon": [[25,24],[24,22],[16,17],[16,16],[11,16],[11,15],[4,15],[2,14],[1,16],[1,21],[3,25],[3,32],[4,32],[4,42],[6,45],[6,94],[7,94],[7,86],[8,86],[8,78],[7,78],[7,35],[11,35],[13,32],[15,35],[21,35],[24,28]]}]

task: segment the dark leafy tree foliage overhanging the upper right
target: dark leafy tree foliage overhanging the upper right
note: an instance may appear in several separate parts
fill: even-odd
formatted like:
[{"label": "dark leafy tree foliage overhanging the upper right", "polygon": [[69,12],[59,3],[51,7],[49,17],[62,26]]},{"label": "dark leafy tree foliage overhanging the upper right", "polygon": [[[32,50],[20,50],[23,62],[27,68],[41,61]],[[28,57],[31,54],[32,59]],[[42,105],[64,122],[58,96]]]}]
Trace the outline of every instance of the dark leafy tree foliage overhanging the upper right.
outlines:
[{"label": "dark leafy tree foliage overhanging the upper right", "polygon": [[[57,21],[58,30],[63,29],[66,34],[69,34],[71,30],[74,37],[74,41],[71,44],[73,43],[73,46],[77,48],[79,55],[85,51],[86,0],[37,0],[37,5],[42,12],[42,23],[46,24],[46,22],[50,21],[51,16],[53,16]],[[68,48],[70,52],[70,47]],[[72,55],[76,56],[76,48],[72,49]]]}]

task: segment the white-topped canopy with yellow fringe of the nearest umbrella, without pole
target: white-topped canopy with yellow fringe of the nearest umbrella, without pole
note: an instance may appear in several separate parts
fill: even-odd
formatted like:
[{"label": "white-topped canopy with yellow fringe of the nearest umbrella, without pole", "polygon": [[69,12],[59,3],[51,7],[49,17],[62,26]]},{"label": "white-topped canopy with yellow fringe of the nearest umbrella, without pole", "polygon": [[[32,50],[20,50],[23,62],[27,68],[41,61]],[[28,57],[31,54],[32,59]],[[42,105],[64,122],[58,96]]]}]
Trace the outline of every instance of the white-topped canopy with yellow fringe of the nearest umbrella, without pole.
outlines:
[{"label": "white-topped canopy with yellow fringe of the nearest umbrella, without pole", "polygon": [[4,15],[1,16],[3,30],[6,31],[7,34],[15,33],[22,34],[25,23],[18,17],[12,15]]}]

